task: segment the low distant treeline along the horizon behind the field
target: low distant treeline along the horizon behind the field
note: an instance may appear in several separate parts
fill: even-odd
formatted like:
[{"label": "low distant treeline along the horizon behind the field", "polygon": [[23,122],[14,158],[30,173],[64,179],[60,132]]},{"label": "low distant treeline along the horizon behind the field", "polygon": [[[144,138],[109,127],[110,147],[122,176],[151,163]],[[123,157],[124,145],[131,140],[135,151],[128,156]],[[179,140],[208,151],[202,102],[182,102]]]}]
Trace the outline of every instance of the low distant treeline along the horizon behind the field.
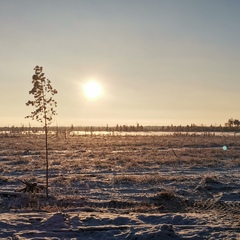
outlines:
[{"label": "low distant treeline along the horizon behind the field", "polygon": [[[205,126],[205,125],[186,125],[186,126],[142,126],[140,124],[136,125],[116,125],[116,126],[50,126],[49,131],[53,132],[74,132],[74,131],[85,131],[85,132],[148,132],[148,131],[158,131],[158,132],[236,132],[240,130],[240,121],[229,119],[224,126]],[[24,126],[21,127],[0,127],[2,133],[37,133],[43,131],[43,127],[32,127]]]}]

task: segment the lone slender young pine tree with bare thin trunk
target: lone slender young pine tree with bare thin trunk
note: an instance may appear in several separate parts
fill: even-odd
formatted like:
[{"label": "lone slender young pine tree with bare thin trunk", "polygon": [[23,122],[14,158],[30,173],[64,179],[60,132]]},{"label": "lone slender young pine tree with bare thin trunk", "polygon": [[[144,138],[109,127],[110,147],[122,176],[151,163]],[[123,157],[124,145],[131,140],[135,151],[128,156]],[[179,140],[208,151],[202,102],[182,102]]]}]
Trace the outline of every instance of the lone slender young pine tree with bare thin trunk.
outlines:
[{"label": "lone slender young pine tree with bare thin trunk", "polygon": [[57,90],[51,86],[51,81],[46,79],[43,68],[36,66],[35,74],[32,76],[33,88],[29,94],[34,96],[34,100],[29,100],[26,105],[35,107],[35,111],[26,118],[39,121],[43,124],[45,132],[45,152],[46,152],[46,196],[48,198],[48,126],[51,124],[53,116],[56,115],[54,110],[57,102],[53,99],[53,95],[57,94]]}]

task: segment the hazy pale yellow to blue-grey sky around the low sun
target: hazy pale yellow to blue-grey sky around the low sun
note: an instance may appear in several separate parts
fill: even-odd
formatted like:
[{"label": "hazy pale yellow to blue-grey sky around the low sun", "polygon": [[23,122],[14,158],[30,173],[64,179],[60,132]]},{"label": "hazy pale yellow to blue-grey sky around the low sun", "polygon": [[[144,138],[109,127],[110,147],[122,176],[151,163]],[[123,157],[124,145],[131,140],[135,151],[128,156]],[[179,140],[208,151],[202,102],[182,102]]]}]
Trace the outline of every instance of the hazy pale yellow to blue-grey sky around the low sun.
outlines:
[{"label": "hazy pale yellow to blue-grey sky around the low sun", "polygon": [[0,0],[0,126],[39,125],[25,119],[36,65],[58,90],[53,125],[239,119],[239,12],[239,0]]}]

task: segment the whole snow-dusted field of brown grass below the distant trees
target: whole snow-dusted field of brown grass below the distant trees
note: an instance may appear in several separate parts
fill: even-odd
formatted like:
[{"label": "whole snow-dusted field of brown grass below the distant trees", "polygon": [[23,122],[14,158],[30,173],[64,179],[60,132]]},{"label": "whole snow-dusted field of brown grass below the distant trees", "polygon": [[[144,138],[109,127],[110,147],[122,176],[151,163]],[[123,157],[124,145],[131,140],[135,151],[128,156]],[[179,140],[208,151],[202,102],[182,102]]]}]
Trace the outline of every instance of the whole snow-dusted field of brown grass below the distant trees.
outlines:
[{"label": "whole snow-dusted field of brown grass below the distant trees", "polygon": [[[240,239],[240,136],[0,135],[0,239]],[[41,190],[41,189],[40,189]]]}]

